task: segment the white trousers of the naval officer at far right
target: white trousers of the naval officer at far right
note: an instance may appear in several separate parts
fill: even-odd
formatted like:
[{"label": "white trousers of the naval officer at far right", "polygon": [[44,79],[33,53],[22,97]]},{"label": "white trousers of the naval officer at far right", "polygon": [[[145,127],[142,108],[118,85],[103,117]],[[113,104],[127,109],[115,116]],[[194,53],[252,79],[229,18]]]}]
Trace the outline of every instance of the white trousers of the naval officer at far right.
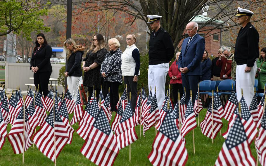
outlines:
[{"label": "white trousers of the naval officer at far right", "polygon": [[245,72],[246,66],[246,64],[236,65],[236,96],[237,100],[240,101],[242,97],[241,89],[243,89],[243,97],[249,107],[254,96],[257,63],[254,63],[250,72]]}]

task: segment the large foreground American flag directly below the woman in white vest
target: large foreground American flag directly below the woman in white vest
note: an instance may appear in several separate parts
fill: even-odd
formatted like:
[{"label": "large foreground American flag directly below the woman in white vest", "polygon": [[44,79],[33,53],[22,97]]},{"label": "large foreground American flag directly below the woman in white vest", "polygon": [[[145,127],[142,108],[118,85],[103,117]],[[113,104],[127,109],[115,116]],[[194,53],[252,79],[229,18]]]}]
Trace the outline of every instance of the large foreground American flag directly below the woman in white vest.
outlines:
[{"label": "large foreground American flag directly below the woman in white vest", "polygon": [[125,148],[138,139],[135,131],[134,112],[132,111],[130,100],[115,130],[115,136],[119,149]]}]

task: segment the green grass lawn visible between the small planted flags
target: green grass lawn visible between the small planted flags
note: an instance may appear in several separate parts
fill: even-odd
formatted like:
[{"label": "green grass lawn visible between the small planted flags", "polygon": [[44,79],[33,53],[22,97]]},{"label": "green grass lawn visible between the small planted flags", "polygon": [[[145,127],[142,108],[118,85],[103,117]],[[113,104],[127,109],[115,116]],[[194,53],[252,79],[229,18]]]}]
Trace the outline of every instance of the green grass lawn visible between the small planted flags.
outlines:
[{"label": "green grass lawn visible between the small planted flags", "polygon": [[[201,111],[199,115],[200,121],[203,121],[205,114],[206,109]],[[115,113],[113,113],[112,121],[114,117]],[[70,115],[70,119],[71,118],[72,115]],[[226,131],[228,122],[223,119],[223,123],[222,133]],[[78,128],[78,123],[74,124],[73,128],[76,130]],[[8,131],[9,130],[10,124],[8,125]],[[139,126],[136,127],[136,132],[139,136]],[[214,165],[222,148],[222,144],[224,143],[224,138],[220,136],[220,134],[217,134],[214,144],[212,144],[212,140],[201,133],[200,127],[194,129],[194,134],[195,155],[193,154],[192,131],[185,136],[186,149],[188,151],[188,161],[186,165]],[[145,138],[143,135],[141,135],[141,137],[139,136],[139,139],[131,145],[131,162],[129,162],[129,146],[127,146],[119,151],[114,165],[151,165],[147,156],[152,150],[152,143],[155,138],[155,128],[148,130],[145,135]],[[85,141],[75,132],[72,144],[67,144],[56,159],[57,165],[95,165],[80,153],[80,149],[84,142]],[[254,142],[251,144],[251,152],[256,159],[257,155]],[[3,148],[0,150],[0,165],[22,165],[22,154],[14,154],[7,138]],[[24,165],[54,165],[54,163],[43,155],[36,146],[31,146],[25,152]]]}]

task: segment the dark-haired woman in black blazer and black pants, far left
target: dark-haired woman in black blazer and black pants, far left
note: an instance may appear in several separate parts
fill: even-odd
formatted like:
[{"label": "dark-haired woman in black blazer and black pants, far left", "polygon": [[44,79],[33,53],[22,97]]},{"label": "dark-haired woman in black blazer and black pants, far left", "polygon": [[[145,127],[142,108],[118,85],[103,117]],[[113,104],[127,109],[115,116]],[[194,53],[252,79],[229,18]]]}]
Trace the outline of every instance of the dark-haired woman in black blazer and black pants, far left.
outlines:
[{"label": "dark-haired woman in black blazer and black pants, far left", "polygon": [[52,56],[52,47],[47,44],[44,34],[37,34],[35,47],[30,60],[30,70],[32,70],[34,84],[38,88],[44,98],[48,94],[49,79],[52,74],[52,65],[50,58]]}]

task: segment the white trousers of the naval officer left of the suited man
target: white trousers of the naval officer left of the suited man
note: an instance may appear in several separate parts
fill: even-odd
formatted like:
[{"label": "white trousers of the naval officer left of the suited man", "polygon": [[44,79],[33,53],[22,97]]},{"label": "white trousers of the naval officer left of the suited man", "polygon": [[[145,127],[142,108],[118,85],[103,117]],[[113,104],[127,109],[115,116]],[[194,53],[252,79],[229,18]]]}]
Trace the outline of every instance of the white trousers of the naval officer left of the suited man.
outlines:
[{"label": "white trousers of the naval officer left of the suited man", "polygon": [[156,97],[158,108],[160,109],[163,105],[165,98],[165,81],[166,75],[169,70],[169,63],[161,63],[158,65],[149,65],[148,70],[148,85],[149,92],[152,89],[152,96],[154,96],[154,88],[156,87]]}]

